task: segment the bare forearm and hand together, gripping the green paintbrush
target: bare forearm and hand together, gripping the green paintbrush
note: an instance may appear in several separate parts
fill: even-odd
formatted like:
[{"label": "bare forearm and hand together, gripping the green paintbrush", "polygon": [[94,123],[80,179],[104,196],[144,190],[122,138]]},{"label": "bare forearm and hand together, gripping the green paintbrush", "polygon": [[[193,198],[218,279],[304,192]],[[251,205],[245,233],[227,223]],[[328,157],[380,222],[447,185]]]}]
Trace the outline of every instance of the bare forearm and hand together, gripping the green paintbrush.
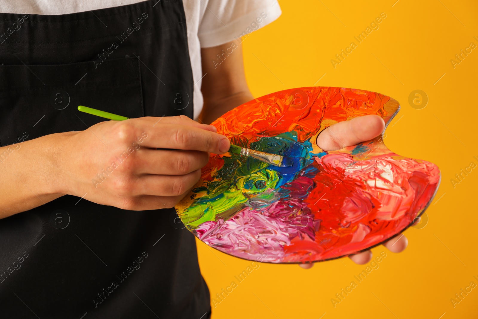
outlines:
[{"label": "bare forearm and hand together, gripping the green paintbrush", "polygon": [[0,218],[65,194],[121,209],[171,208],[209,153],[226,153],[230,142],[214,126],[177,116],[104,121],[20,146],[0,165]]}]

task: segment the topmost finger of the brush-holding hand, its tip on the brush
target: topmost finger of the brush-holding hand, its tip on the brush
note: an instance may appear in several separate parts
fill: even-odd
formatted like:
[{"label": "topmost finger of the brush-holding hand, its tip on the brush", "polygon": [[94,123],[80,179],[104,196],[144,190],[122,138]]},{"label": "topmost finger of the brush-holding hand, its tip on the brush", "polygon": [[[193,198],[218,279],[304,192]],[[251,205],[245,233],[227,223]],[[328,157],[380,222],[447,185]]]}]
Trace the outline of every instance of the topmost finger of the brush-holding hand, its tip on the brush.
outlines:
[{"label": "topmost finger of the brush-holding hand, its tip on the brush", "polygon": [[163,124],[157,130],[151,130],[150,135],[151,138],[144,139],[143,145],[152,148],[224,154],[231,145],[224,135],[185,125]]}]

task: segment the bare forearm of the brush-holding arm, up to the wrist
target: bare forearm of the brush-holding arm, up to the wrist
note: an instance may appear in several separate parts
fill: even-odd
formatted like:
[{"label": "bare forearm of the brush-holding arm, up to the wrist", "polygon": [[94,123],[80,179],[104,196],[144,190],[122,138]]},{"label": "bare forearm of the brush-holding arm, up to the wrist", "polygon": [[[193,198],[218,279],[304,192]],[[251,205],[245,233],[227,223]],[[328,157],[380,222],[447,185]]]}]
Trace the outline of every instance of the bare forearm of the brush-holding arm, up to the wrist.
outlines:
[{"label": "bare forearm of the brush-holding arm, up to the wrist", "polygon": [[0,219],[33,209],[64,194],[55,173],[59,145],[67,133],[0,147]]}]

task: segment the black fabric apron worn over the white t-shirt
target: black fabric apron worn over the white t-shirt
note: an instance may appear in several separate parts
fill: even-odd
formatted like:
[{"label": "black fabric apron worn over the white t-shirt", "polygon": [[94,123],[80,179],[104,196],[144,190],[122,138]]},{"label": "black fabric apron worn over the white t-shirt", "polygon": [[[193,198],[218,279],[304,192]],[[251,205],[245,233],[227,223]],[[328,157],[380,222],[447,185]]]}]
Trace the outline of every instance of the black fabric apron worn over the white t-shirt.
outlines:
[{"label": "black fabric apron worn over the white t-shirt", "polygon": [[[0,13],[0,32],[1,146],[104,121],[78,105],[130,118],[193,116],[181,0]],[[206,319],[210,311],[195,238],[174,209],[128,211],[66,195],[0,220],[0,318]]]}]

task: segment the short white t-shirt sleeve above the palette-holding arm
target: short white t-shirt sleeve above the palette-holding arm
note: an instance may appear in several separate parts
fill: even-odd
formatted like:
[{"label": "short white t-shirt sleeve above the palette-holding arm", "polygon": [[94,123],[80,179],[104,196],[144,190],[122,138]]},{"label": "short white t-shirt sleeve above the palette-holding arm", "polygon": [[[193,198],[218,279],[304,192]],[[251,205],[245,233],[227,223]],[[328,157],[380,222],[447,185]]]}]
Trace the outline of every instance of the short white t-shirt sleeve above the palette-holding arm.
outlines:
[{"label": "short white t-shirt sleeve above the palette-holding arm", "polygon": [[198,37],[202,48],[225,44],[281,15],[277,0],[200,0],[204,12]]}]

